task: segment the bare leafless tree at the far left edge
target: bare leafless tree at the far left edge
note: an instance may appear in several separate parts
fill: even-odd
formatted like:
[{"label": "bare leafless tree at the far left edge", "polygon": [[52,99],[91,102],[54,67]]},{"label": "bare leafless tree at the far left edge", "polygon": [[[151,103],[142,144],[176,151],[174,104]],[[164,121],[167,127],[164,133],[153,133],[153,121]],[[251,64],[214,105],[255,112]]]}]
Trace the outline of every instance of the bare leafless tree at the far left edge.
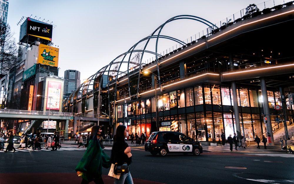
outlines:
[{"label": "bare leafless tree at the far left edge", "polygon": [[21,59],[21,52],[16,45],[14,33],[11,33],[9,24],[0,22],[0,74],[9,74]]}]

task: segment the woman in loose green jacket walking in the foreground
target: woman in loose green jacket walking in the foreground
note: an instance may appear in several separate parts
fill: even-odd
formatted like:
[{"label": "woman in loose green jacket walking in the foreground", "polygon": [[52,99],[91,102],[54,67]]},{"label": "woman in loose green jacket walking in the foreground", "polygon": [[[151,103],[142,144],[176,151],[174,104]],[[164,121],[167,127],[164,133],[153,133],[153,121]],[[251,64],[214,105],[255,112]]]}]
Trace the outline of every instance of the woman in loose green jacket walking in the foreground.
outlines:
[{"label": "woman in loose green jacket walking in the foreground", "polygon": [[94,181],[96,184],[103,184],[102,167],[109,168],[110,157],[101,147],[100,137],[103,137],[103,130],[100,126],[94,125],[90,134],[90,141],[87,150],[76,166],[76,173],[82,176],[81,184]]}]

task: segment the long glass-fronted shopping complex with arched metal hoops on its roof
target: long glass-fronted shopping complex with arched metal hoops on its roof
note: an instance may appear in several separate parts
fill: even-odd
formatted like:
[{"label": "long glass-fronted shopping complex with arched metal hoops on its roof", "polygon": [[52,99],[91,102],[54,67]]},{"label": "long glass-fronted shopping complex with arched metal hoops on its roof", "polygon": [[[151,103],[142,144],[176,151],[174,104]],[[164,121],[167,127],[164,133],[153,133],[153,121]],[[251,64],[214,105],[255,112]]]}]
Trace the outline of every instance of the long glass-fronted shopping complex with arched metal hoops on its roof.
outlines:
[{"label": "long glass-fronted shopping complex with arched metal hoops on its roof", "polygon": [[[138,135],[178,131],[211,142],[236,132],[248,140],[265,135],[274,145],[275,131],[293,125],[294,5],[258,8],[219,25],[172,17],[89,77],[62,111],[97,116],[98,122],[107,116],[109,133],[122,124]],[[161,34],[183,20],[208,28],[184,41]],[[159,53],[162,39],[176,46]]]}]

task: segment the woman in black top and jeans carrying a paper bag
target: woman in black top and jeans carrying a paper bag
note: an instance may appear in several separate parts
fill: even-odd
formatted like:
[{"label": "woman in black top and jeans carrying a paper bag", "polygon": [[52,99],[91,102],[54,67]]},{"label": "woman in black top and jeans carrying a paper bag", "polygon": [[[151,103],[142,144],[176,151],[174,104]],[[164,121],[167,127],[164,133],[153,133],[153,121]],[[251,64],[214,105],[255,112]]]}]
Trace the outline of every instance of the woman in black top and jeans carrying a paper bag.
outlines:
[{"label": "woman in black top and jeans carrying a paper bag", "polygon": [[[128,137],[128,130],[126,126],[119,125],[116,128],[116,138],[111,150],[111,163],[113,164],[122,165],[127,163],[129,166],[132,162],[131,147],[126,143],[125,137]],[[130,169],[128,173],[120,175],[119,179],[114,178],[114,184],[133,184]]]}]

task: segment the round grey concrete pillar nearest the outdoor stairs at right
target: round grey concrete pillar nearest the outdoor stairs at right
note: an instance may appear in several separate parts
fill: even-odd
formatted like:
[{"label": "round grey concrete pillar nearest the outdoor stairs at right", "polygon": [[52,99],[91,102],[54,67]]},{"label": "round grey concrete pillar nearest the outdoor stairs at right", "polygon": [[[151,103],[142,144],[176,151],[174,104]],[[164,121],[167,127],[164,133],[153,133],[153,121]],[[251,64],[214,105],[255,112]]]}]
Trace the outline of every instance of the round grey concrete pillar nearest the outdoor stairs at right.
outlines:
[{"label": "round grey concrete pillar nearest the outdoor stairs at right", "polygon": [[[267,117],[267,119],[268,119],[268,123],[263,122],[266,126],[266,131],[270,134],[270,136],[268,136],[268,145],[275,145],[274,137],[273,137],[272,123],[270,120],[270,108],[268,106],[268,92],[266,89],[266,83],[265,83],[264,77],[260,78],[260,87],[261,87],[261,94],[262,94],[262,98],[263,98],[264,117]],[[258,136],[260,136],[260,135],[258,135]],[[264,135],[264,136],[266,137],[266,135]]]}]

